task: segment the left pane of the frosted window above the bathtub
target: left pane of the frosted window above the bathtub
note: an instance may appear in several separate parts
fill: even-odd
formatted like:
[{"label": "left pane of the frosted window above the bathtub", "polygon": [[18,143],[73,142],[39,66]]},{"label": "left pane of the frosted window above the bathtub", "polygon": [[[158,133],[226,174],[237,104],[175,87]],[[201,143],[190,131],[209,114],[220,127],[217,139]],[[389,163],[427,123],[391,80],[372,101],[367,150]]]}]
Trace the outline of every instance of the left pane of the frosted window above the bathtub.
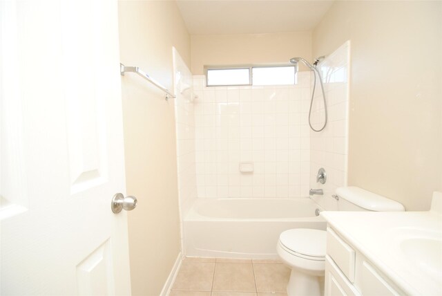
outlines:
[{"label": "left pane of the frosted window above the bathtub", "polygon": [[250,68],[208,69],[207,86],[250,85]]}]

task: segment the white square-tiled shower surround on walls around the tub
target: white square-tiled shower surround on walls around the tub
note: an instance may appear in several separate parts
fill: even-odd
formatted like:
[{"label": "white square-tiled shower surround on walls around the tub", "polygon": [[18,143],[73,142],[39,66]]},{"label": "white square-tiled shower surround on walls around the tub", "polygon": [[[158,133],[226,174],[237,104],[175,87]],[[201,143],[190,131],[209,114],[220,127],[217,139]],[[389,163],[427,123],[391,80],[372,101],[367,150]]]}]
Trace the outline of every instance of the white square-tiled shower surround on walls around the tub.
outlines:
[{"label": "white square-tiled shower surround on walls around the tub", "polygon": [[[319,133],[308,125],[311,72],[298,72],[294,86],[207,87],[203,75],[194,75],[193,95],[176,80],[182,215],[197,197],[305,197],[310,187],[324,189],[314,200],[336,210],[332,194],[347,185],[349,47],[347,41],[320,64],[328,124]],[[180,58],[175,62],[175,75],[191,75]],[[321,95],[318,83],[316,129],[324,120]],[[253,163],[253,172],[240,172],[241,162]],[[327,171],[325,185],[316,183],[320,167]]]}]

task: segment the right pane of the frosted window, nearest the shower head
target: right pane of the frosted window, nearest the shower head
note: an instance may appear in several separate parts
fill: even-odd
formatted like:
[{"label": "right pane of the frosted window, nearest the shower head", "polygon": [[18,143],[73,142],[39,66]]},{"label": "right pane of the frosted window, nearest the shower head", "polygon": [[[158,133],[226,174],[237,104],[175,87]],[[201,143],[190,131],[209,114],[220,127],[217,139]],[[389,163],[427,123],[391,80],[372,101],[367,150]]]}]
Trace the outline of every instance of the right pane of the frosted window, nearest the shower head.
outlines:
[{"label": "right pane of the frosted window, nearest the shower head", "polygon": [[295,67],[253,67],[253,85],[295,84]]}]

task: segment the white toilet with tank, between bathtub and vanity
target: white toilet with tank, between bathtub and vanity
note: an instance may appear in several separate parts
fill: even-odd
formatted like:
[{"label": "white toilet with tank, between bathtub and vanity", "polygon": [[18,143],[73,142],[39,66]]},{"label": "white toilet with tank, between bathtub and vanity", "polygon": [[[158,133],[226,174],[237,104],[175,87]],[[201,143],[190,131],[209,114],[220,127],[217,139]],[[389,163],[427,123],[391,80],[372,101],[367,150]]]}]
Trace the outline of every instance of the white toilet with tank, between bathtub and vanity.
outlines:
[{"label": "white toilet with tank, between bathtub and vanity", "polygon": [[[401,203],[359,187],[338,187],[333,196],[339,211],[401,212]],[[287,294],[323,295],[325,230],[296,228],[280,234],[276,250],[282,262],[291,268]]]}]

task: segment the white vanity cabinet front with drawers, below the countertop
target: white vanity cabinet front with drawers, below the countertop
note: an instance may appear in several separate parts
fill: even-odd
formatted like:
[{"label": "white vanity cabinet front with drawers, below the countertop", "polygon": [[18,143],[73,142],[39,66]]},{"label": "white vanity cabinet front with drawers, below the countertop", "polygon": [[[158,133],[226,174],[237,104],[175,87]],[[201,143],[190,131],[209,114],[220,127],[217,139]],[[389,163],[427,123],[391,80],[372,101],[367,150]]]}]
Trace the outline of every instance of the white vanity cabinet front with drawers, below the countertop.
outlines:
[{"label": "white vanity cabinet front with drawers, below the countertop", "polygon": [[325,296],[404,295],[343,236],[327,228]]}]

